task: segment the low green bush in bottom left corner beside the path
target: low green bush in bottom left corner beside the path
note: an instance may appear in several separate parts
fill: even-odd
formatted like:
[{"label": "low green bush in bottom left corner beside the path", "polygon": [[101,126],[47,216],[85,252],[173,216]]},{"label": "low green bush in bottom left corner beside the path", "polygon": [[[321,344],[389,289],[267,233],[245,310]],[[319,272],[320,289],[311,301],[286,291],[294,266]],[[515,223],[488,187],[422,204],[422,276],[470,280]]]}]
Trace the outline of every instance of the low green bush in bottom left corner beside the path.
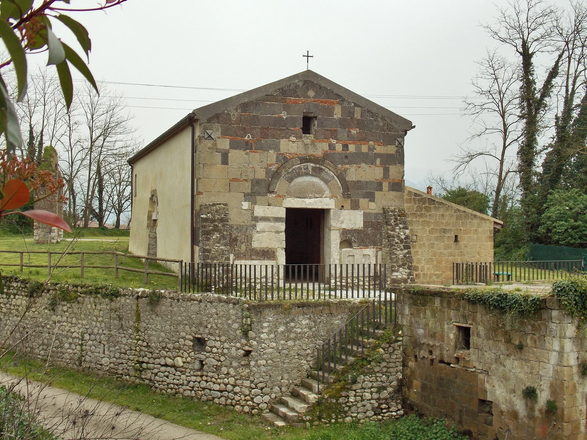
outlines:
[{"label": "low green bush in bottom left corner beside the path", "polygon": [[23,409],[21,395],[0,387],[0,432],[3,438],[16,440],[56,440],[58,437],[36,424]]}]

